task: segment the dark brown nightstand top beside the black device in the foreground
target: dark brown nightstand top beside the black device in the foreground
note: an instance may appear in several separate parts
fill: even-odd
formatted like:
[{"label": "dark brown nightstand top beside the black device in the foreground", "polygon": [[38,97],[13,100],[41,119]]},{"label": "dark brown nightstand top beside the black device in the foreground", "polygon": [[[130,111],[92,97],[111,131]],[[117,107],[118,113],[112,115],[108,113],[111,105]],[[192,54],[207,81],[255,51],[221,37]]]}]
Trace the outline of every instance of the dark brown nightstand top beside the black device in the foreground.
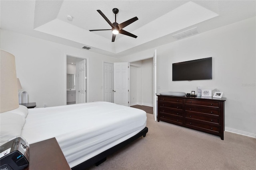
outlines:
[{"label": "dark brown nightstand top beside the black device in the foreground", "polygon": [[29,145],[29,164],[24,170],[70,170],[56,138]]}]

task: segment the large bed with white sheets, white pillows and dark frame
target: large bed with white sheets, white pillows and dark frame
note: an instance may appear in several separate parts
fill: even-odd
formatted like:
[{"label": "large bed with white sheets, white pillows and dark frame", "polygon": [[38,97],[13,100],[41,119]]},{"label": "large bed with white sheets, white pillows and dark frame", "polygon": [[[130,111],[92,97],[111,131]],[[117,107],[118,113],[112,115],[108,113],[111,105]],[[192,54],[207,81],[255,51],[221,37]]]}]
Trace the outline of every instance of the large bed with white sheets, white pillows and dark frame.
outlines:
[{"label": "large bed with white sheets, white pillows and dark frame", "polygon": [[109,102],[18,109],[1,116],[1,143],[21,135],[29,144],[55,137],[72,170],[106,160],[108,154],[146,136],[146,112]]}]

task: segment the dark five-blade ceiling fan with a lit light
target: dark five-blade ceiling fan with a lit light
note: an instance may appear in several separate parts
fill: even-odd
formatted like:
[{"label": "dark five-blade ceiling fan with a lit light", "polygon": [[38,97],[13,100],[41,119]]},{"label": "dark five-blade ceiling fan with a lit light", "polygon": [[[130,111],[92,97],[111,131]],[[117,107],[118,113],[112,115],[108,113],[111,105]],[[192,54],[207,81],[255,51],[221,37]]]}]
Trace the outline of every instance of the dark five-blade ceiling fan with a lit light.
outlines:
[{"label": "dark five-blade ceiling fan with a lit light", "polygon": [[137,17],[134,17],[134,18],[131,18],[130,20],[127,20],[127,21],[124,21],[123,23],[120,23],[118,24],[116,22],[116,14],[118,14],[119,10],[117,8],[114,8],[112,11],[113,13],[115,14],[115,22],[114,23],[111,23],[108,18],[100,11],[100,10],[97,10],[100,15],[108,22],[108,24],[112,27],[112,29],[92,29],[92,30],[89,30],[89,31],[105,31],[105,30],[112,30],[112,42],[115,41],[116,39],[116,35],[118,33],[120,34],[124,34],[124,35],[128,35],[130,37],[134,37],[134,38],[137,38],[136,35],[132,34],[132,33],[129,33],[127,31],[124,31],[123,28],[126,27],[127,25],[130,25],[131,23],[133,23],[134,21],[137,21],[138,18]]}]

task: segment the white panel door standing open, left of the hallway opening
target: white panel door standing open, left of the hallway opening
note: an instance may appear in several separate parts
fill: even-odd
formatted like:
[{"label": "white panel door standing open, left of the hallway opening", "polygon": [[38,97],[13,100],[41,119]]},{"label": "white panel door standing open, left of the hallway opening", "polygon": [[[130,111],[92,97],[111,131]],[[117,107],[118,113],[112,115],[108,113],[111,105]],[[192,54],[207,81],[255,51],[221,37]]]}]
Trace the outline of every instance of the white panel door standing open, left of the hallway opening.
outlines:
[{"label": "white panel door standing open, left of the hallway opening", "polygon": [[114,103],[130,106],[130,63],[114,63]]}]

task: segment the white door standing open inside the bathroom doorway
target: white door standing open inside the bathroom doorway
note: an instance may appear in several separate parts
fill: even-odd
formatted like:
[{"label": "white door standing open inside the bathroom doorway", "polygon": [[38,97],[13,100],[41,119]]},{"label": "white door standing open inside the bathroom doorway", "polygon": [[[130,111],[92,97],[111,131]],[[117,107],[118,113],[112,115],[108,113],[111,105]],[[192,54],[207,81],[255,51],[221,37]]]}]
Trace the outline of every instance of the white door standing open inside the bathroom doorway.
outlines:
[{"label": "white door standing open inside the bathroom doorway", "polygon": [[76,104],[86,102],[86,60],[82,60],[76,67],[78,71],[78,84],[76,86]]}]

